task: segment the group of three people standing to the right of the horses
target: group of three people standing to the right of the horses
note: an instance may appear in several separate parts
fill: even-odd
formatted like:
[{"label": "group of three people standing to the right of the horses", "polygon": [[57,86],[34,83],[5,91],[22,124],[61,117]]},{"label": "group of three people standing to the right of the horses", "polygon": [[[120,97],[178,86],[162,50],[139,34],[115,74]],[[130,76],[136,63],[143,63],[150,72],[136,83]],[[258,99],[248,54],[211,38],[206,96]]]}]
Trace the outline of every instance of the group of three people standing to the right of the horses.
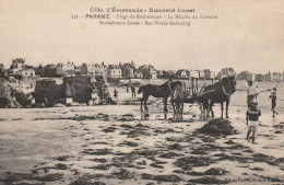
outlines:
[{"label": "group of three people standing to the right of the horses", "polygon": [[[248,104],[248,111],[246,114],[246,120],[247,120],[247,125],[248,125],[248,132],[247,132],[247,140],[249,140],[250,134],[252,134],[251,136],[251,141],[252,143],[255,143],[256,140],[256,131],[257,131],[257,127],[258,127],[258,123],[259,123],[259,117],[261,116],[261,112],[258,108],[258,102],[257,102],[257,97],[259,95],[259,92],[255,89],[255,86],[252,86],[252,81],[248,81],[248,90],[247,90],[247,104]],[[277,112],[275,112],[275,107],[276,107],[276,86],[273,88],[272,90],[268,90],[271,91],[271,111],[273,113],[272,117],[275,117],[275,114],[277,114]]]}]

